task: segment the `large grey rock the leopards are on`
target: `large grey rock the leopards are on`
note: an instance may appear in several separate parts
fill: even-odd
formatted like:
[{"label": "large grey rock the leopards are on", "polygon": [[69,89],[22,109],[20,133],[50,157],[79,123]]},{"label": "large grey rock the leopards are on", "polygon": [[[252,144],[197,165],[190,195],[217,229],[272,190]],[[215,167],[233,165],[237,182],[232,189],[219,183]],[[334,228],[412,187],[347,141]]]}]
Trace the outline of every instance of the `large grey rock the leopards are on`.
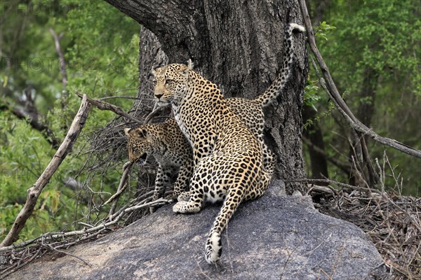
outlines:
[{"label": "large grey rock the leopards are on", "polygon": [[356,226],[320,214],[309,197],[267,195],[239,207],[222,234],[218,267],[204,260],[220,205],[199,214],[170,206],[64,255],[32,263],[8,279],[374,279],[382,258]]}]

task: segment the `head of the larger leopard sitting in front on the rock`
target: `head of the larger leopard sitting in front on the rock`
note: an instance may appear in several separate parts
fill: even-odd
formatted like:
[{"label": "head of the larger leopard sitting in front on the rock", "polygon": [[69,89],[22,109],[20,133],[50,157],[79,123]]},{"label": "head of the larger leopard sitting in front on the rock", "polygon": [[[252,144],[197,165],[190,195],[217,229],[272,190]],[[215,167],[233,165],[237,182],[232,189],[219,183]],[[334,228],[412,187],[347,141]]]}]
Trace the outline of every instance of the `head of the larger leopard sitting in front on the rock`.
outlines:
[{"label": "head of the larger leopard sitting in front on the rock", "polygon": [[185,64],[168,64],[152,69],[154,76],[154,98],[159,106],[177,102],[185,95],[189,66]]}]

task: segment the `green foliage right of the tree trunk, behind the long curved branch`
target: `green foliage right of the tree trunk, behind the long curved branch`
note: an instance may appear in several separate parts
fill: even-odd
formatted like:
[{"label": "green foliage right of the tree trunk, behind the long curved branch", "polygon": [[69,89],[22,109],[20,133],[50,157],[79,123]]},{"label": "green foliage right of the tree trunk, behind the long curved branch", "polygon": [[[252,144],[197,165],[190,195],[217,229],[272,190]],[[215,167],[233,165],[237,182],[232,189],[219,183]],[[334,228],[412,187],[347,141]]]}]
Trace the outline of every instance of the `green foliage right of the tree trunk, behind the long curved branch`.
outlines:
[{"label": "green foliage right of the tree trunk, behind the long curved branch", "polygon": [[[313,3],[316,5],[316,1]],[[322,39],[317,43],[338,90],[349,92],[346,102],[350,109],[357,114],[362,106],[373,105],[369,126],[375,132],[420,149],[419,1],[336,0],[328,2],[325,12],[323,20],[328,25],[322,22],[316,28]],[[374,89],[373,96],[366,95],[370,87]],[[323,98],[316,106],[323,115],[323,99],[328,97],[319,95]],[[326,146],[346,155],[347,136],[337,120],[328,122],[328,127],[323,123],[324,139],[330,143]],[[332,131],[342,134],[343,139],[333,136]],[[394,172],[403,177],[404,194],[419,194],[419,160],[373,141],[368,144],[373,158],[381,160],[387,151]],[[335,155],[334,151],[327,152]],[[330,170],[335,172],[334,167]],[[387,185],[392,188],[394,182]]]}]

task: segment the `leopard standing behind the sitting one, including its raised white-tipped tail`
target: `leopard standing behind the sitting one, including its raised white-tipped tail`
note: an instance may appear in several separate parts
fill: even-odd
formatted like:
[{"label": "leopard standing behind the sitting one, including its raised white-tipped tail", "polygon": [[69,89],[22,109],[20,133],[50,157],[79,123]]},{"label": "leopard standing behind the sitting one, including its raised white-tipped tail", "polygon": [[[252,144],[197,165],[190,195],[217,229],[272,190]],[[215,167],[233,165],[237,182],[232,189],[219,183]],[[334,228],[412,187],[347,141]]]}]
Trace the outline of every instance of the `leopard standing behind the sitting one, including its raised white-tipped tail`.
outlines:
[{"label": "leopard standing behind the sitting one, including its raised white-tipped tail", "polygon": [[[299,25],[288,25],[284,38],[285,56],[282,69],[274,83],[258,98],[229,98],[227,105],[231,107],[236,116],[239,116],[243,123],[255,133],[262,144],[265,160],[265,169],[272,175],[274,171],[274,156],[263,141],[263,127],[265,124],[262,108],[267,106],[276,98],[285,86],[290,76],[290,64],[293,60],[293,31],[303,31]],[[183,139],[182,132],[178,129],[175,121],[168,120],[165,123],[142,125],[135,129],[125,129],[128,137],[128,154],[130,161],[136,161],[145,157],[146,154],[154,155],[159,164],[156,174],[154,200],[161,197],[166,186],[170,184],[171,172],[180,168],[178,179],[175,182],[174,192],[168,199],[175,199],[182,190],[189,186],[189,179],[192,176],[192,148],[187,140]],[[186,197],[187,195],[184,195]]]}]

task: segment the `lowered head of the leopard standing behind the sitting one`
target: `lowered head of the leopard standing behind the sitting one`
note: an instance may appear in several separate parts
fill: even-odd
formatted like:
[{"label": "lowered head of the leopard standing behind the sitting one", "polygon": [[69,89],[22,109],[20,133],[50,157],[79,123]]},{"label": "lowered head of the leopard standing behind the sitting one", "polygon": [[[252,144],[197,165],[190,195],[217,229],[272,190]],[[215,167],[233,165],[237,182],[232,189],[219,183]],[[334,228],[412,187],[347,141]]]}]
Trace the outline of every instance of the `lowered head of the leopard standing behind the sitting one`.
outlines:
[{"label": "lowered head of the leopard standing behind the sitting one", "polygon": [[125,128],[124,133],[127,135],[127,151],[130,162],[136,162],[139,159],[145,162],[148,154],[156,152],[155,135],[148,125]]}]

